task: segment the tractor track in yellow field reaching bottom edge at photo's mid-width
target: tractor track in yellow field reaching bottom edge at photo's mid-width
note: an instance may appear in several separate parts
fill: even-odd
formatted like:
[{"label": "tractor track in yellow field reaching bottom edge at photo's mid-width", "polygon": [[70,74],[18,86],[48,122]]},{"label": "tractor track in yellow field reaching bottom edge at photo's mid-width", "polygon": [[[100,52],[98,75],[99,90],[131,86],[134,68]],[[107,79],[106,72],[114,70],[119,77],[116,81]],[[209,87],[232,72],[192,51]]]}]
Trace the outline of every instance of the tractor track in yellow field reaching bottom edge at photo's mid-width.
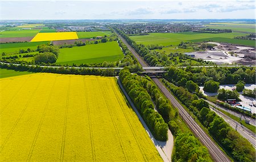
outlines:
[{"label": "tractor track in yellow field reaching bottom edge at photo's mid-width", "polygon": [[103,97],[104,97],[105,104],[106,104],[106,106],[107,106],[107,108],[108,108],[108,111],[109,111],[109,114],[110,114],[110,117],[111,117],[111,120],[112,120],[114,129],[115,129],[115,133],[117,134],[117,137],[118,137],[118,140],[119,140],[119,144],[120,144],[120,147],[121,147],[122,152],[123,152],[123,156],[125,156],[125,161],[128,161],[128,160],[127,160],[127,157],[126,157],[126,154],[125,154],[125,150],[123,150],[123,141],[122,141],[122,139],[121,139],[121,135],[120,135],[120,133],[119,133],[117,124],[116,124],[115,121],[114,121],[114,117],[113,117],[113,114],[112,114],[112,112],[111,112],[111,110],[110,110],[110,105],[109,105],[109,103],[108,103],[108,100],[106,100],[106,92],[105,92],[105,89],[104,89],[104,87],[101,86],[101,84],[100,84],[98,78],[97,78],[97,83],[98,83],[98,85],[100,86],[101,93],[102,93],[102,95],[103,95]]}]

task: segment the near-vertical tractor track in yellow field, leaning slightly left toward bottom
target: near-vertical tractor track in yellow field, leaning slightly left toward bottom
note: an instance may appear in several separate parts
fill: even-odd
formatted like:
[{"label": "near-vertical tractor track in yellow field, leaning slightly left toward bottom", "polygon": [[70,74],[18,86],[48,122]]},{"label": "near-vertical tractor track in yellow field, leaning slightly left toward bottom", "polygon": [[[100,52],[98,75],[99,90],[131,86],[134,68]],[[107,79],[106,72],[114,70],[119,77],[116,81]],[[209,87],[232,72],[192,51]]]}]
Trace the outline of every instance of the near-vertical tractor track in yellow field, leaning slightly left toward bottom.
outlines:
[{"label": "near-vertical tractor track in yellow field, leaning slightly left toward bottom", "polygon": [[63,124],[63,134],[62,134],[62,142],[61,142],[61,150],[60,150],[60,161],[64,161],[65,140],[66,140],[66,132],[67,132],[68,101],[69,101],[69,93],[70,93],[70,84],[71,84],[71,77],[69,76],[67,100],[66,100],[66,107],[65,107],[65,117],[64,117],[64,124]]}]

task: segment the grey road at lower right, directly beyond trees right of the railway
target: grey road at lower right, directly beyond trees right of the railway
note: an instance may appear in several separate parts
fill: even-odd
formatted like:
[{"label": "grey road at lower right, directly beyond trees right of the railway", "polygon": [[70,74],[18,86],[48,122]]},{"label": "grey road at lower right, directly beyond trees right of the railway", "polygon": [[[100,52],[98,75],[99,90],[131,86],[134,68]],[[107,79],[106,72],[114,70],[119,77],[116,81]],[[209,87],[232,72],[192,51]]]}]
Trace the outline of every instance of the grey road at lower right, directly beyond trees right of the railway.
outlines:
[{"label": "grey road at lower right, directly beyond trees right of the railway", "polygon": [[256,135],[251,130],[243,127],[239,122],[233,120],[229,116],[226,116],[226,114],[222,113],[220,110],[213,108],[213,106],[210,106],[210,109],[218,114],[218,116],[222,117],[231,127],[233,127],[233,129],[237,130],[238,133],[240,133],[244,138],[249,140],[253,147],[256,148]]}]

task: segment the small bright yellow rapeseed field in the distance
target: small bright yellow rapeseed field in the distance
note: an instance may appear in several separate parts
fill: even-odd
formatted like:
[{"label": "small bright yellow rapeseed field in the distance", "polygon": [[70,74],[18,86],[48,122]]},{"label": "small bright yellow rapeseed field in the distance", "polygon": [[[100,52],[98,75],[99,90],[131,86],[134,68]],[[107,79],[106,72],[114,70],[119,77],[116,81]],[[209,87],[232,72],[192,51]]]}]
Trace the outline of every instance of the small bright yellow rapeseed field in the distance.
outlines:
[{"label": "small bright yellow rapeseed field in the distance", "polygon": [[79,39],[76,32],[37,33],[31,42]]}]

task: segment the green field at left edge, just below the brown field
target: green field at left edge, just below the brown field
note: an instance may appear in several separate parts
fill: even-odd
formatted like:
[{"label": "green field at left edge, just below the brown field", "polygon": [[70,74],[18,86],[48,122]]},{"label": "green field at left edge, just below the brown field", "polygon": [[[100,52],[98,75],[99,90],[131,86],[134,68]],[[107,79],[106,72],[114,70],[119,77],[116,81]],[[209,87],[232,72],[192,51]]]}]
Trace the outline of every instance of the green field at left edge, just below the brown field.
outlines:
[{"label": "green field at left edge, just below the brown field", "polygon": [[0,44],[0,54],[5,52],[6,54],[14,54],[19,53],[20,49],[27,50],[30,48],[31,50],[35,50],[40,44],[47,44],[49,41],[44,42],[17,42],[17,43],[9,43],[9,44]]}]

